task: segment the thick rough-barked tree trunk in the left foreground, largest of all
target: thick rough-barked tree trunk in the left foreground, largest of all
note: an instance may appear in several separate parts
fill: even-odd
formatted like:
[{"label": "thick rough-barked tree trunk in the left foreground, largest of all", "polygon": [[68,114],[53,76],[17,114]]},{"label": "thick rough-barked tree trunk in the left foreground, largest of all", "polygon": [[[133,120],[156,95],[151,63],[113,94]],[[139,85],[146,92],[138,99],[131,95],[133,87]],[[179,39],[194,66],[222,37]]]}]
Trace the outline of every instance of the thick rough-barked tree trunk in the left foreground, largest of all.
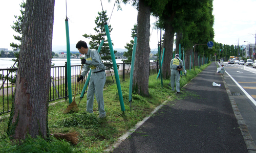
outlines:
[{"label": "thick rough-barked tree trunk in the left foreground, largest of all", "polygon": [[54,0],[27,0],[16,93],[8,125],[12,139],[47,137]]}]

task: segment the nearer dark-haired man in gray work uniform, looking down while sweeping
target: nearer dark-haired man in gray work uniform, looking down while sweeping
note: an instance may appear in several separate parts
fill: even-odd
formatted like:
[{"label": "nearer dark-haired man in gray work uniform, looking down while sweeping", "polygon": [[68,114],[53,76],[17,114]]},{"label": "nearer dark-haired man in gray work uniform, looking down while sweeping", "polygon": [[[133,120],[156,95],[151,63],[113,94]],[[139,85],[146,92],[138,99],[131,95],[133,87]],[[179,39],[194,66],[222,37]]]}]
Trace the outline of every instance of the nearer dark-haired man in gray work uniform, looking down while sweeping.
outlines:
[{"label": "nearer dark-haired man in gray work uniform, looking down while sweeping", "polygon": [[77,78],[77,82],[82,80],[88,71],[91,69],[91,78],[87,91],[87,112],[93,113],[94,94],[98,103],[99,117],[105,117],[104,100],[103,100],[103,87],[106,81],[105,66],[101,61],[101,57],[97,50],[89,49],[87,43],[78,41],[76,48],[79,52],[86,56],[81,60],[83,64],[83,72]]}]

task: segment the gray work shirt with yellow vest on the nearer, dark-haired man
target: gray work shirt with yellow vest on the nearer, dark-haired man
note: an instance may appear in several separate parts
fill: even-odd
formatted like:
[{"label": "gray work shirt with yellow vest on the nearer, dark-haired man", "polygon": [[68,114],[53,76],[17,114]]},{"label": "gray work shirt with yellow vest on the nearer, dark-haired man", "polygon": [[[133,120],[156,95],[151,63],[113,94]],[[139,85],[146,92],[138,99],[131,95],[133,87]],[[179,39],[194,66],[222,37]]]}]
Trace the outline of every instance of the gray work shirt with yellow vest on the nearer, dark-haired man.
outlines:
[{"label": "gray work shirt with yellow vest on the nearer, dark-haired man", "polygon": [[92,73],[105,70],[105,66],[102,63],[101,57],[97,50],[89,48],[84,59],[86,59],[86,64],[83,64],[84,70],[81,73],[83,78],[86,76],[90,69],[92,69]]}]

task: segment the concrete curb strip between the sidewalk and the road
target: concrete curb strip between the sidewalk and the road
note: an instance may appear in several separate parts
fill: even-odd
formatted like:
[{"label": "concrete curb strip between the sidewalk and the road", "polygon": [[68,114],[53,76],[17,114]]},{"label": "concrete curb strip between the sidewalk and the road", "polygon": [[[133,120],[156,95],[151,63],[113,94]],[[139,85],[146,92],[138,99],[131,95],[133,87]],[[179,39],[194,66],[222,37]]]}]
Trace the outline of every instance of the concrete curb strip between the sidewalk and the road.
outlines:
[{"label": "concrete curb strip between the sidewalk and the road", "polygon": [[221,78],[222,78],[222,81],[224,83],[224,86],[226,88],[226,91],[227,91],[227,94],[228,94],[228,98],[230,100],[230,103],[231,103],[231,106],[232,106],[232,109],[233,109],[233,112],[234,112],[234,116],[236,116],[236,119],[237,119],[237,122],[239,124],[239,127],[240,127],[240,130],[241,130],[241,133],[243,135],[243,138],[244,138],[244,141],[245,141],[245,144],[246,144],[246,147],[247,147],[247,150],[249,152],[256,152],[256,145],[250,135],[250,132],[247,128],[247,125],[237,107],[237,104],[236,104],[236,101],[234,101],[233,97],[232,97],[232,94],[227,86],[227,83],[223,77],[223,75],[221,75]]}]

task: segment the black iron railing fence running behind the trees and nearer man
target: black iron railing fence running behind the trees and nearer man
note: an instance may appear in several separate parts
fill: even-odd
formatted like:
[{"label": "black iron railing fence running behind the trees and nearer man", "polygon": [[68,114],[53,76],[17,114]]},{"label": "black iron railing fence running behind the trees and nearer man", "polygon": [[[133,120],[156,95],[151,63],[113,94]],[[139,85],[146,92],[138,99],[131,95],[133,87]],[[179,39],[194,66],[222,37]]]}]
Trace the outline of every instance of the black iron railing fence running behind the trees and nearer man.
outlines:
[{"label": "black iron railing fence running behind the trees and nearer man", "polygon": [[[116,84],[113,64],[104,64],[106,73],[106,82],[104,87]],[[77,83],[77,77],[80,73],[81,65],[71,66],[71,86],[72,93],[81,94],[83,86],[88,75],[82,81]],[[117,69],[120,81],[130,80],[131,63],[117,63]],[[150,74],[157,73],[159,69],[158,62],[150,62]],[[82,68],[83,70],[83,68]],[[15,90],[17,68],[0,69],[0,115],[8,113],[11,110],[11,103]],[[57,99],[68,98],[68,78],[67,62],[65,66],[52,66],[49,102]],[[86,89],[87,92],[87,89]]]}]

